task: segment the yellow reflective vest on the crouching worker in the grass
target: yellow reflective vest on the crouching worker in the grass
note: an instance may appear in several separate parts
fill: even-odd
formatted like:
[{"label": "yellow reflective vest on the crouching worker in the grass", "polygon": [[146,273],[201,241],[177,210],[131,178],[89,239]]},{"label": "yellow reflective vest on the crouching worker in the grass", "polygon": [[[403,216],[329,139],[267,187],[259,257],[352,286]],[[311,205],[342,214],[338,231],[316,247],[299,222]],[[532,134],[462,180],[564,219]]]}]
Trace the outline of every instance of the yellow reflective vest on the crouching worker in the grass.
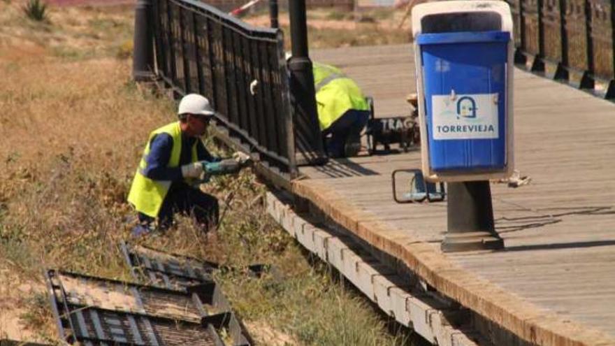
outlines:
[{"label": "yellow reflective vest on the crouching worker in the grass", "polygon": [[[157,217],[160,207],[166,197],[169,187],[171,187],[170,180],[152,180],[147,178],[143,172],[147,168],[147,155],[150,154],[150,143],[152,138],[157,134],[169,134],[173,138],[173,148],[171,149],[171,157],[168,159],[167,167],[178,167],[180,165],[180,156],[182,152],[182,130],[180,129],[180,122],[172,122],[164,127],[155,129],[150,134],[150,138],[147,139],[147,145],[143,150],[143,157],[139,162],[139,166],[135,173],[135,177],[132,181],[132,186],[128,194],[128,201],[134,206],[138,212],[150,217]],[[197,161],[196,156],[196,143],[192,147],[192,161]]]}]

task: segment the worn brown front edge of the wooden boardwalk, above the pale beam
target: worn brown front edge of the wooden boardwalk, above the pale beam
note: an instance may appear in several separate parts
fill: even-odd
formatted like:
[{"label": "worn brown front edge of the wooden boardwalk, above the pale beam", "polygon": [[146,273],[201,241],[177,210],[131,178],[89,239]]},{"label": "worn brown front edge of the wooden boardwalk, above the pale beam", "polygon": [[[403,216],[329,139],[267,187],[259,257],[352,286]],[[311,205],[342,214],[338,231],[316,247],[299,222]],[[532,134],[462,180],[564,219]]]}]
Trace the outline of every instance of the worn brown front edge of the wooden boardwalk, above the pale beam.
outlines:
[{"label": "worn brown front edge of the wooden boardwalk, above the pale beam", "polygon": [[454,264],[433,245],[413,241],[405,231],[372,221],[375,215],[352,206],[318,180],[296,180],[293,192],[378,250],[403,261],[440,293],[523,340],[552,346],[615,345],[615,338],[609,334],[523,301]]}]

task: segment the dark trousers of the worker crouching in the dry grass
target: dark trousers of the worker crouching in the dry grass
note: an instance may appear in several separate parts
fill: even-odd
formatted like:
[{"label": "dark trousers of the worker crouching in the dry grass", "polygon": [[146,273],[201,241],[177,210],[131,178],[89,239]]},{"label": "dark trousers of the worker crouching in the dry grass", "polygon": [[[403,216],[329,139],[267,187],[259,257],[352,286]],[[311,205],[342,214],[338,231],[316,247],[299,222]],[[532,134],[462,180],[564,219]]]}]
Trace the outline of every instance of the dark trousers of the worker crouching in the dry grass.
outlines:
[{"label": "dark trousers of the worker crouching in the dry grass", "polygon": [[[203,231],[209,231],[218,224],[219,206],[218,200],[195,189],[185,182],[175,182],[168,189],[168,193],[158,213],[159,229],[167,229],[173,223],[173,215],[193,215],[196,222],[203,226]],[[154,221],[152,217],[139,213],[139,221],[150,225]]]}]

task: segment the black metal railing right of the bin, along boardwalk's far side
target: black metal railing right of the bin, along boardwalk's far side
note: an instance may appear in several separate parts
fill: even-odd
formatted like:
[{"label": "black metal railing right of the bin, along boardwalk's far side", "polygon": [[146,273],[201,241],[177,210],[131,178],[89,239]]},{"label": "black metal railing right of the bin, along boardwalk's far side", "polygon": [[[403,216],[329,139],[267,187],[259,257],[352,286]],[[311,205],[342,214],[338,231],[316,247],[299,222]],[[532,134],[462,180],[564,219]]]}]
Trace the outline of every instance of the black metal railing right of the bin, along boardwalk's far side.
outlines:
[{"label": "black metal railing right of the bin, along boardwalk's far side", "polygon": [[515,25],[516,63],[615,99],[613,0],[507,2]]}]

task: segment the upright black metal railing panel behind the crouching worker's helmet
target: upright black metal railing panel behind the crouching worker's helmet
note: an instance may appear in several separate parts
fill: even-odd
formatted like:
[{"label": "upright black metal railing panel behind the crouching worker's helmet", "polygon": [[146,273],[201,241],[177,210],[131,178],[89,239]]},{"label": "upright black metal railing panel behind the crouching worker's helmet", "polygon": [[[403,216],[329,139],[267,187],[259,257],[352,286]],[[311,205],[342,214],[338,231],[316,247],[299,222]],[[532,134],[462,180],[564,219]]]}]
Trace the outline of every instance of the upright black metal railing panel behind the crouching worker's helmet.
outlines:
[{"label": "upright black metal railing panel behind the crouching worker's helmet", "polygon": [[278,178],[294,178],[282,31],[252,27],[192,0],[152,0],[152,16],[159,78],[176,94],[207,97],[226,142],[258,154]]}]

